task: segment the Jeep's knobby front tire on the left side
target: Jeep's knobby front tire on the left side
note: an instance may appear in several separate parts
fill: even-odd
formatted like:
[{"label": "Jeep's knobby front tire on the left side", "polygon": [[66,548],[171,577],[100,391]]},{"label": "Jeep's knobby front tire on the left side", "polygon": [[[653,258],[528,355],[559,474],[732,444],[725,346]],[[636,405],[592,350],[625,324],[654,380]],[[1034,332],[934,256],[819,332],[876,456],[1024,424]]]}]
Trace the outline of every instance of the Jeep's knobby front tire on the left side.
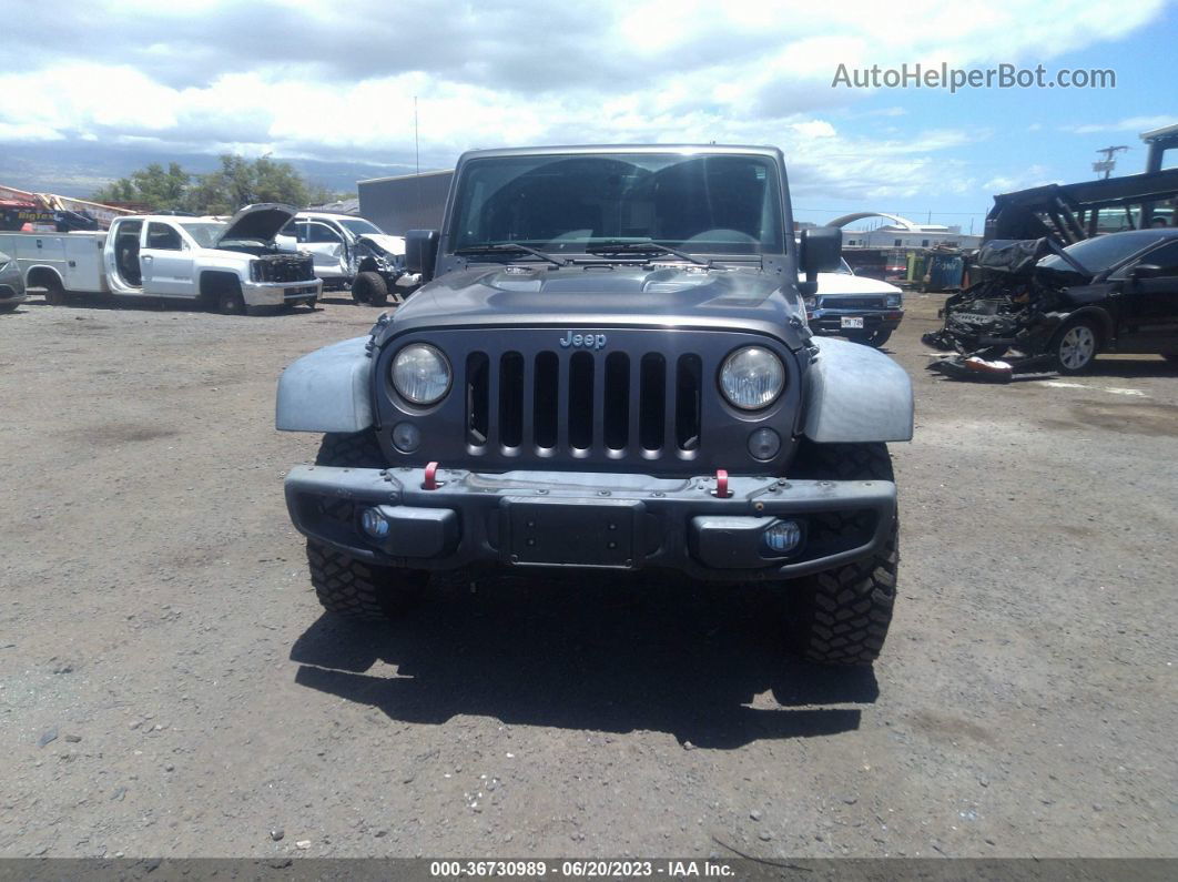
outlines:
[{"label": "Jeep's knobby front tire on the left side", "polygon": [[[316,465],[383,469],[386,463],[372,430],[325,435]],[[306,542],[311,584],[327,612],[352,619],[395,618],[411,606],[429,582],[429,572],[357,561],[313,539]]]}]

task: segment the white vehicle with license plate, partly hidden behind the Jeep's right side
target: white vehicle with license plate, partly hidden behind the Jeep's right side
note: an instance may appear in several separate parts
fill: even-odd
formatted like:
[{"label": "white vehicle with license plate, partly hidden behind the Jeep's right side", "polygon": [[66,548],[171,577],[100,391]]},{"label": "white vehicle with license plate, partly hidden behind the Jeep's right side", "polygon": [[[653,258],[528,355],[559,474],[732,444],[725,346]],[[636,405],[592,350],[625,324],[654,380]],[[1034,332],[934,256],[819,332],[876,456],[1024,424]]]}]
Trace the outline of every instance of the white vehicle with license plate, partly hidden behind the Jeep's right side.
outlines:
[{"label": "white vehicle with license plate, partly hidden behind the Jeep's right side", "polygon": [[859,277],[840,258],[834,272],[818,274],[818,291],[806,298],[806,320],[820,334],[841,334],[879,349],[904,319],[904,292],[879,279]]}]

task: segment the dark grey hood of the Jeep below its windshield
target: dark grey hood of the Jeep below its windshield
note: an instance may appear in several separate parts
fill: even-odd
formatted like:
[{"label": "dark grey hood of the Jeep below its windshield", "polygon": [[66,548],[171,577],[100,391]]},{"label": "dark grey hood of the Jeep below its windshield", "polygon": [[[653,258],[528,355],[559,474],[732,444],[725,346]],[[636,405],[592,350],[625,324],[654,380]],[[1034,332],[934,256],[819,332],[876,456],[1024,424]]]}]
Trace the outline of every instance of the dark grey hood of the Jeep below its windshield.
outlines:
[{"label": "dark grey hood of the Jeep below its windshield", "polygon": [[419,289],[383,338],[430,327],[654,327],[743,330],[805,345],[794,285],[760,270],[681,266],[476,266]]}]

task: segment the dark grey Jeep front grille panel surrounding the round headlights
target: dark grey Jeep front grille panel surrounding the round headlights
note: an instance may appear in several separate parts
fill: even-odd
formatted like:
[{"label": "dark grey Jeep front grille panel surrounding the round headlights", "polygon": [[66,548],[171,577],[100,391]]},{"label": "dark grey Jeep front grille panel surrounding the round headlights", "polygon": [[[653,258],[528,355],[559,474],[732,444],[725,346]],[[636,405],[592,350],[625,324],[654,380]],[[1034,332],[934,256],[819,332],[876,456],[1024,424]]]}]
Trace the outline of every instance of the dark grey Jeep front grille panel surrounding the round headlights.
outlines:
[{"label": "dark grey Jeep front grille panel surrounding the round headlights", "polygon": [[[587,327],[594,345],[568,346],[565,327],[462,327],[406,333],[380,353],[380,437],[390,463],[476,471],[576,470],[702,475],[714,469],[776,473],[792,453],[801,384],[789,351],[730,329]],[[575,333],[575,332],[574,332]],[[600,339],[600,344],[598,344]],[[454,371],[449,394],[416,407],[392,389],[403,346],[428,343]],[[770,346],[787,369],[786,390],[763,412],[722,398],[720,365],[749,344]],[[418,426],[421,446],[399,451],[392,431]],[[772,463],[753,459],[749,433],[772,425],[782,438]]]}]

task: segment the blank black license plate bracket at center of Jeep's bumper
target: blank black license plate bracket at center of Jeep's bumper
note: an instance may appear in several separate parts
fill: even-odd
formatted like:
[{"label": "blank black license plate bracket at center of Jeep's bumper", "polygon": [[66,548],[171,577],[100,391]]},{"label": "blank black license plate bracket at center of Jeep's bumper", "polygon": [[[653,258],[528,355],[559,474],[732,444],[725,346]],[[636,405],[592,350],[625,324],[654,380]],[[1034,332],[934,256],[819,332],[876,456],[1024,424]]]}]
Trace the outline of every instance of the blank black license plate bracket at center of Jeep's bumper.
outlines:
[{"label": "blank black license plate bracket at center of Jeep's bumper", "polygon": [[640,506],[634,499],[508,497],[501,522],[508,563],[629,569]]}]

